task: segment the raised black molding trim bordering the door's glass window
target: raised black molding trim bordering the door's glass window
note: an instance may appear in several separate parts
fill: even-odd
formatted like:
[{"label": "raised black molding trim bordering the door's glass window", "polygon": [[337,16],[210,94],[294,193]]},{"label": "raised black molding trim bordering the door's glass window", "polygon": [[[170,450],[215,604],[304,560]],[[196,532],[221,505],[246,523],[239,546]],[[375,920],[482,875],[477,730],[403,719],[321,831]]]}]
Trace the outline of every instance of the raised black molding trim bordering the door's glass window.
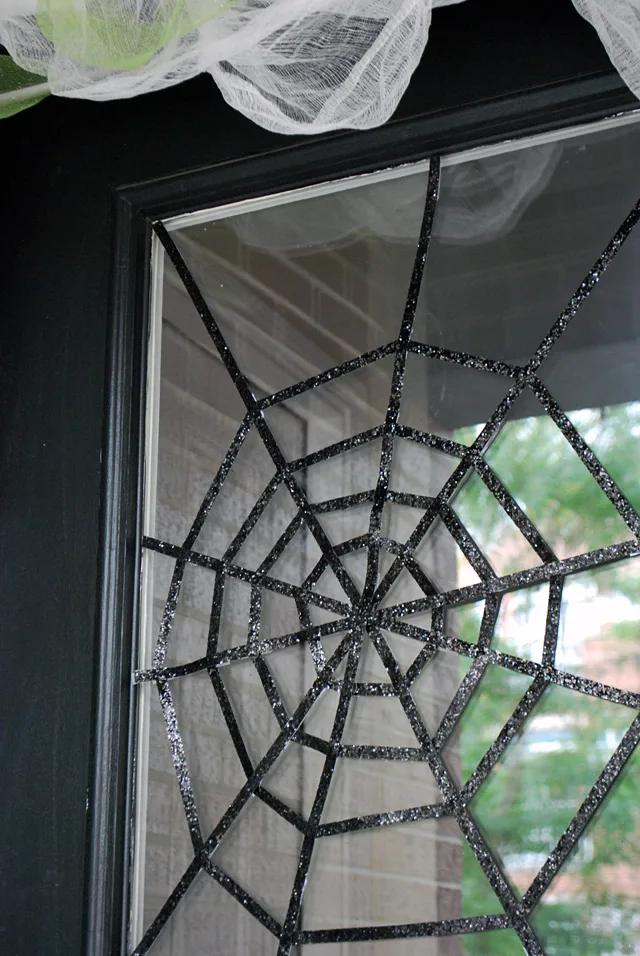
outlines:
[{"label": "raised black molding trim bordering the door's glass window", "polygon": [[611,77],[571,81],[357,135],[117,188],[101,530],[99,660],[86,910],[88,956],[124,953],[132,851],[131,673],[141,561],[146,343],[153,223],[197,209],[359,175],[628,112]]}]

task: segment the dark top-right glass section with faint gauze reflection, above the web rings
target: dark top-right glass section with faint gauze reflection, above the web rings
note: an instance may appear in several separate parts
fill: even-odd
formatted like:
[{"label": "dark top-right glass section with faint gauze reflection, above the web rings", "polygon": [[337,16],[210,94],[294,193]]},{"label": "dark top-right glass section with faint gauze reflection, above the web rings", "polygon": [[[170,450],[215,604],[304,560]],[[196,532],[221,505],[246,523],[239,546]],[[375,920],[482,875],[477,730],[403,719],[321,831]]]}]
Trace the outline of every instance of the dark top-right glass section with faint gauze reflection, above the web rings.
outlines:
[{"label": "dark top-right glass section with faint gauze reflection, above the web rings", "polygon": [[524,361],[638,198],[637,125],[446,167],[416,338]]}]

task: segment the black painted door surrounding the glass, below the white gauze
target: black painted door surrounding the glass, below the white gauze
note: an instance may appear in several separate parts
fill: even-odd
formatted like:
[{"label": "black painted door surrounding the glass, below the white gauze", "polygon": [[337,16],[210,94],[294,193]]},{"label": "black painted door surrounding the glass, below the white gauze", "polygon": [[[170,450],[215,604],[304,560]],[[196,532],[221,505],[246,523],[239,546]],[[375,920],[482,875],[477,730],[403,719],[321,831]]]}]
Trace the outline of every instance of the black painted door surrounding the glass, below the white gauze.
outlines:
[{"label": "black painted door surrounding the glass, below the white gauze", "polygon": [[303,185],[633,107],[569,0],[520,7],[517,22],[500,0],[437,11],[397,115],[367,133],[269,134],[205,79],[50,99],[3,126],[7,956],[120,952],[149,222],[212,189],[255,194],[257,169]]}]

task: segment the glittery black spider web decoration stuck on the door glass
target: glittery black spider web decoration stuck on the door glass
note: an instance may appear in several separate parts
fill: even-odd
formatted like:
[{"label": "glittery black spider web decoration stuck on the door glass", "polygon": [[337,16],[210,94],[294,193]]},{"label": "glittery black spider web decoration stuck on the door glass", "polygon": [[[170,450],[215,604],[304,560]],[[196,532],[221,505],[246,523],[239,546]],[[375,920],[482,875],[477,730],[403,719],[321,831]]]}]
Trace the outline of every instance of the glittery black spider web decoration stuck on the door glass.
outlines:
[{"label": "glittery black spider web decoration stuck on the door glass", "polygon": [[[138,672],[135,679],[137,682],[154,682],[160,695],[175,772],[193,844],[193,860],[135,949],[134,956],[142,956],[142,954],[148,952],[195,877],[203,872],[227,890],[279,940],[278,956],[287,956],[291,953],[293,947],[301,944],[452,936],[507,928],[515,930],[525,951],[530,956],[543,954],[544,949],[530,923],[529,917],[532,910],[575,847],[640,739],[640,716],[636,715],[635,720],[630,723],[621,742],[606,763],[582,806],[578,808],[549,858],[527,892],[520,897],[506,879],[500,865],[494,858],[491,847],[483,838],[473,819],[469,810],[469,803],[474,794],[486,780],[492,767],[505,752],[510,741],[522,729],[525,720],[548,686],[557,684],[580,694],[613,701],[632,710],[640,709],[640,694],[568,673],[558,669],[555,665],[558,625],[565,579],[577,572],[640,555],[640,544],[638,542],[640,517],[538,377],[541,364],[569,323],[574,319],[580,306],[597,284],[640,218],[640,201],[633,207],[629,216],[622,223],[584,281],[579,285],[549,334],[527,364],[516,366],[493,361],[489,358],[417,343],[411,338],[438,199],[439,180],[440,162],[438,159],[434,159],[429,171],[424,218],[397,339],[357,359],[344,362],[313,378],[299,382],[260,400],[254,397],[246,377],[241,372],[223,338],[214,315],[207,306],[202,293],[165,227],[162,224],[155,226],[160,241],[184,283],[244,402],[246,415],[202,501],[185,540],[181,544],[175,544],[154,538],[145,538],[143,542],[145,548],[175,558],[175,567],[152,667],[147,671]],[[470,446],[464,446],[455,441],[400,424],[399,413],[403,381],[407,357],[410,353],[428,356],[467,368],[480,369],[504,379],[504,398]],[[267,423],[263,414],[264,410],[325,382],[348,375],[350,372],[356,371],[386,355],[394,356],[394,365],[391,392],[384,422],[375,428],[325,447],[304,458],[287,461]],[[484,453],[504,424],[513,403],[525,390],[529,390],[536,396],[546,415],[560,429],[581,461],[586,465],[593,480],[606,494],[629,528],[630,540],[588,551],[566,560],[558,559],[538,529],[490,468],[484,458]],[[275,465],[276,474],[256,501],[225,556],[215,558],[194,550],[194,545],[216,496],[220,492],[250,431],[260,436]],[[396,437],[437,449],[457,462],[455,470],[435,497],[427,498],[390,489],[393,445]],[[378,478],[374,488],[358,494],[326,500],[319,504],[309,502],[303,482],[299,477],[305,468],[317,462],[329,461],[334,458],[339,459],[339,456],[343,453],[374,440],[381,440]],[[473,474],[481,479],[484,486],[508,514],[522,536],[532,546],[541,561],[539,566],[531,570],[504,576],[495,573],[491,564],[451,507],[456,492],[461,488],[462,483]],[[285,531],[274,542],[271,551],[258,569],[256,571],[249,570],[236,563],[234,558],[251,535],[253,528],[265,512],[277,489],[281,486],[288,489],[295,502],[297,513]],[[405,542],[391,540],[382,533],[382,514],[387,502],[409,505],[422,511],[419,522]],[[363,503],[370,503],[371,505],[368,532],[339,546],[332,545],[318,516],[323,513],[348,511],[348,509]],[[442,520],[458,548],[478,575],[478,584],[440,592],[434,587],[416,561],[416,549],[437,520]],[[272,573],[272,569],[302,527],[305,527],[307,532],[315,539],[321,551],[321,558],[302,585],[294,585],[279,579]],[[367,554],[366,575],[362,588],[355,584],[342,561],[346,554],[360,549],[365,549]],[[382,552],[393,556],[392,563],[384,574],[381,574],[379,570]],[[171,638],[182,577],[187,564],[208,568],[215,574],[207,652],[203,658],[190,663],[167,666],[165,663],[167,648]],[[318,587],[322,574],[327,569],[331,569],[337,578],[344,592],[343,600],[323,594]],[[416,600],[383,606],[384,599],[392,585],[404,570],[408,571],[419,585],[423,596]],[[245,582],[251,587],[249,631],[246,643],[243,645],[220,650],[218,648],[218,634],[222,601],[225,586],[230,579]],[[542,582],[549,582],[550,588],[541,662],[536,663],[493,649],[491,642],[502,595],[517,589],[529,588]],[[276,592],[295,601],[300,620],[300,628],[297,631],[269,639],[261,636],[261,600],[265,590]],[[477,643],[469,644],[447,635],[444,629],[445,609],[463,606],[479,600],[485,601],[485,610]],[[325,624],[314,625],[310,615],[310,607],[312,606],[333,612],[337,619]],[[431,625],[428,629],[411,623],[412,615],[425,610],[430,610],[432,613]],[[416,647],[421,646],[422,648],[405,674],[398,665],[384,636],[384,631],[413,638],[417,642]],[[327,655],[322,642],[322,639],[329,635],[344,635],[337,649],[331,655]],[[375,648],[388,680],[367,683],[356,679],[358,661],[365,642],[371,642]],[[273,679],[269,659],[271,655],[277,654],[279,650],[296,644],[308,646],[315,667],[315,680],[297,708],[289,712]],[[460,655],[470,657],[473,659],[473,663],[442,717],[439,727],[433,735],[430,735],[412,695],[412,684],[439,648],[446,648]],[[246,742],[219,673],[221,667],[233,665],[235,661],[247,660],[254,663],[279,724],[278,736],[257,763],[254,763],[249,756]],[[458,787],[443,760],[442,751],[474,691],[479,686],[489,664],[497,664],[507,670],[528,675],[533,678],[533,682],[467,782]],[[338,676],[339,669],[341,676]],[[171,690],[172,681],[199,671],[206,671],[209,674],[228,732],[247,778],[218,824],[209,834],[203,834],[200,826],[198,809],[188,771],[187,755],[178,728]],[[321,695],[331,693],[338,695],[338,704],[333,729],[330,739],[327,741],[305,732],[304,721]],[[365,746],[343,742],[343,731],[352,698],[381,695],[394,697],[399,701],[415,736],[414,747]],[[308,818],[287,806],[284,801],[272,794],[264,785],[267,773],[292,741],[318,751],[324,758],[323,769]],[[322,813],[332,775],[337,760],[341,756],[365,760],[375,757],[377,759],[424,761],[437,782],[442,802],[322,823]],[[297,872],[291,887],[289,906],[283,922],[278,922],[267,913],[249,893],[216,863],[214,851],[253,796],[267,803],[292,827],[297,828],[303,836]],[[457,822],[461,833],[468,842],[475,859],[495,893],[496,903],[500,904],[502,910],[500,914],[390,926],[352,926],[307,931],[300,928],[305,884],[316,841],[350,831],[388,825],[395,826],[406,821],[440,817],[450,817]]]}]

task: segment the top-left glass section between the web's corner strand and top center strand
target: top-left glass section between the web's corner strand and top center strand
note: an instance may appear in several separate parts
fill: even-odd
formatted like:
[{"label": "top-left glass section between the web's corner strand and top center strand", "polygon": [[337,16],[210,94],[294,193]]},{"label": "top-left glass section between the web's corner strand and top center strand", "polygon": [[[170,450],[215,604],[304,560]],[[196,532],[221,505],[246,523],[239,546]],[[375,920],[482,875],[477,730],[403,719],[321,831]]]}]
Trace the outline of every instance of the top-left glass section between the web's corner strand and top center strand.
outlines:
[{"label": "top-left glass section between the web's corner strand and top center strand", "polygon": [[263,392],[397,336],[427,174],[398,185],[356,184],[176,234],[241,368]]}]

